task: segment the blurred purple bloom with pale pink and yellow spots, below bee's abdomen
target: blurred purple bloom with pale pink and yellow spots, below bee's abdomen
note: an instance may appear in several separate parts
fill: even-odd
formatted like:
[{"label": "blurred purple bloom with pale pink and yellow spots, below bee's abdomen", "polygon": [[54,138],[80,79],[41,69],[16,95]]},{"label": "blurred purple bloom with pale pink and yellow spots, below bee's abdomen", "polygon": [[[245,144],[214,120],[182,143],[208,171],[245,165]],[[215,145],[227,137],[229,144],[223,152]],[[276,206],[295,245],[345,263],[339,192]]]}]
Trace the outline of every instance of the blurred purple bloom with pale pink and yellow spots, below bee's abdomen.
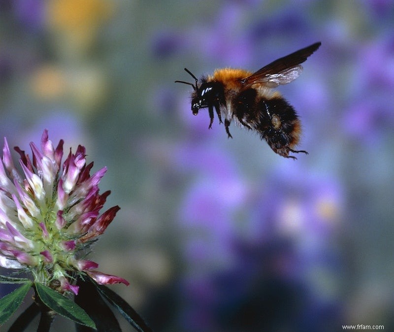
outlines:
[{"label": "blurred purple bloom with pale pink and yellow spots, below bee's abdomen", "polygon": [[330,237],[340,220],[344,198],[335,179],[288,165],[277,167],[255,204],[251,240],[285,235],[301,245],[313,237],[321,241]]}]

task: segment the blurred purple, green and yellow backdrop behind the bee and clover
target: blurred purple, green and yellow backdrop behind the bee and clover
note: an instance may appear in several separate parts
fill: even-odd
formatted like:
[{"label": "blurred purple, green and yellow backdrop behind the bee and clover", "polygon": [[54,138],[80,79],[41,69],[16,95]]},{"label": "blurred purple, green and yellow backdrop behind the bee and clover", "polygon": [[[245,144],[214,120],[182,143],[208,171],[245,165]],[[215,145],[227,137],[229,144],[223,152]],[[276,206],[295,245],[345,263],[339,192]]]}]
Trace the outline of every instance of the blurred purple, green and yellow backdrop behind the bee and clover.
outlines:
[{"label": "blurred purple, green and yellow backdrop behind the bee and clover", "polygon": [[[279,88],[297,161],[208,130],[174,83],[316,41]],[[394,331],[393,108],[392,0],[0,1],[0,135],[108,166],[121,210],[91,259],[155,331]]]}]

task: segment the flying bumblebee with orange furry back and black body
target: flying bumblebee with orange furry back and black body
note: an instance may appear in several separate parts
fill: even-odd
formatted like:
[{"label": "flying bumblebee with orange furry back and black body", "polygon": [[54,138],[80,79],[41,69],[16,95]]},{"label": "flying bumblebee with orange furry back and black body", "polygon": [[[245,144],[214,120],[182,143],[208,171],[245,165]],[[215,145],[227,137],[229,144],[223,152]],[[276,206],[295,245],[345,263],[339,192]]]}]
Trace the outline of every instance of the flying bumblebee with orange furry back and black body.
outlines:
[{"label": "flying bumblebee with orange furry back and black body", "polygon": [[243,69],[216,69],[213,75],[203,76],[198,81],[187,68],[185,70],[195,79],[193,87],[192,111],[198,114],[200,108],[208,108],[212,127],[214,109],[219,118],[225,119],[226,133],[232,138],[229,126],[232,120],[241,126],[256,131],[265,139],[271,149],[286,158],[295,150],[301,134],[301,124],[296,110],[281,94],[274,91],[280,84],[295,80],[302,72],[302,64],[321,42],[302,48],[283,58],[275,60],[255,73]]}]

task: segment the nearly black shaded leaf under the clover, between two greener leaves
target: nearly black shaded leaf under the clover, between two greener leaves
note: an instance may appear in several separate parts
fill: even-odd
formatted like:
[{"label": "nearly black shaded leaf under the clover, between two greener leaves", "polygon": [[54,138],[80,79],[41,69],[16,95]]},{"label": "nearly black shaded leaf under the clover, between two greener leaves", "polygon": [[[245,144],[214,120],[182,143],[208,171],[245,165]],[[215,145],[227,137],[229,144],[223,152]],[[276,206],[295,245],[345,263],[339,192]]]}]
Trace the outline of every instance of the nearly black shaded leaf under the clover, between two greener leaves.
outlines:
[{"label": "nearly black shaded leaf under the clover, between two greener leaves", "polygon": [[[96,286],[88,279],[78,279],[79,286],[78,296],[75,297],[75,303],[80,305],[93,319],[97,331],[105,332],[122,332],[118,320],[108,304],[102,299]],[[91,332],[92,329],[77,325],[77,332]]]}]

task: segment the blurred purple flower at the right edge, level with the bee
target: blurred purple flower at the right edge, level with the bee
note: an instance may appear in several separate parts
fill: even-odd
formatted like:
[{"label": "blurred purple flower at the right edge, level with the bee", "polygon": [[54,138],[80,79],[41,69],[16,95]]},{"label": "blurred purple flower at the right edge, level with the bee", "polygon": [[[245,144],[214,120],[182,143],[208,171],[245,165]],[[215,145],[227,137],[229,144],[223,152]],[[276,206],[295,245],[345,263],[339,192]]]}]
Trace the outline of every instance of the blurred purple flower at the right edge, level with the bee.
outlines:
[{"label": "blurred purple flower at the right edge, level with the bee", "polygon": [[352,71],[350,104],[343,115],[343,131],[375,142],[382,130],[394,124],[394,39],[364,44]]}]

